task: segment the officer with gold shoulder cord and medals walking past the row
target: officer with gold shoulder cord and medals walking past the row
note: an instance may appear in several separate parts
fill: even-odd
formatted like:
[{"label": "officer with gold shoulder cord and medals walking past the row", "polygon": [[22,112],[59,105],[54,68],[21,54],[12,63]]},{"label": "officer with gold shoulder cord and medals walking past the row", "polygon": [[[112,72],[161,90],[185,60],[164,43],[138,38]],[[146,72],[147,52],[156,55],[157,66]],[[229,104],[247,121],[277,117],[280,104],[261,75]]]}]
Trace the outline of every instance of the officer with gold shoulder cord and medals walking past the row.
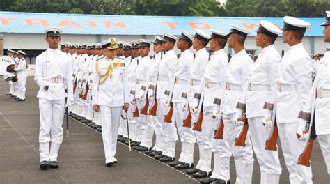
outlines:
[{"label": "officer with gold shoulder cord and medals walking past the row", "polygon": [[127,68],[123,59],[116,58],[115,38],[101,43],[105,57],[95,63],[93,72],[93,109],[100,112],[105,164],[117,162],[116,148],[120,114],[129,107]]}]

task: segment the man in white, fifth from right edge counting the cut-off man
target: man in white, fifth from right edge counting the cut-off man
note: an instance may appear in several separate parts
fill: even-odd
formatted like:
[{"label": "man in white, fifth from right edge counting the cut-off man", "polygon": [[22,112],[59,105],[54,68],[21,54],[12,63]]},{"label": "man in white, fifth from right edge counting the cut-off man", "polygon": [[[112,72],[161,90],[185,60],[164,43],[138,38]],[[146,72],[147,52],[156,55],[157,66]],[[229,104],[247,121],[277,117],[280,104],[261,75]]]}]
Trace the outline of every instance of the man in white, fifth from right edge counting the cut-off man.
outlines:
[{"label": "man in white, fifth from right edge counting the cut-off man", "polygon": [[[229,158],[223,157],[221,151],[217,148],[217,139],[213,139],[213,130],[217,130],[219,121],[212,118],[214,100],[221,99],[221,91],[224,88],[224,79],[226,75],[226,68],[228,65],[228,56],[224,52],[224,47],[227,43],[228,33],[211,29],[212,35],[210,38],[210,48],[213,55],[205,68],[204,77],[200,84],[200,90],[204,91],[203,110],[204,118],[201,130],[201,148],[204,153],[214,151],[214,169],[210,178],[202,178],[201,183],[226,183],[229,178],[223,174],[223,164],[228,163]],[[202,90],[203,89],[203,90]],[[217,121],[217,122],[215,122]],[[206,154],[205,154],[206,155]],[[205,157],[205,167],[208,171],[211,170],[211,156]]]}]

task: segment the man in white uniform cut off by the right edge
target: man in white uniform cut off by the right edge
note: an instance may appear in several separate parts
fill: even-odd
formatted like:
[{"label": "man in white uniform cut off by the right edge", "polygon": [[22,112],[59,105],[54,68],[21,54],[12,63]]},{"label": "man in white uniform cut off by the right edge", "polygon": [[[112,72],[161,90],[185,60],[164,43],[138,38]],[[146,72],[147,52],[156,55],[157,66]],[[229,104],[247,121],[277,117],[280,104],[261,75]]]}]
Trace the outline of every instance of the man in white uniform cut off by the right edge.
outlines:
[{"label": "man in white uniform cut off by the right edge", "polygon": [[[324,42],[330,42],[330,11],[327,11],[326,20],[320,26],[324,26]],[[322,59],[317,62],[316,77],[309,92],[304,112],[313,114],[317,141],[323,154],[324,162],[327,165],[327,172],[330,176],[330,128],[329,128],[329,109],[330,109],[330,52],[326,52]],[[315,95],[316,94],[316,95]],[[315,99],[316,96],[316,99]],[[313,106],[315,105],[315,106]],[[312,109],[315,110],[313,113]],[[311,118],[313,119],[313,118]],[[299,120],[297,137],[304,139],[303,132],[306,130],[306,120]],[[311,130],[309,130],[311,131]]]}]

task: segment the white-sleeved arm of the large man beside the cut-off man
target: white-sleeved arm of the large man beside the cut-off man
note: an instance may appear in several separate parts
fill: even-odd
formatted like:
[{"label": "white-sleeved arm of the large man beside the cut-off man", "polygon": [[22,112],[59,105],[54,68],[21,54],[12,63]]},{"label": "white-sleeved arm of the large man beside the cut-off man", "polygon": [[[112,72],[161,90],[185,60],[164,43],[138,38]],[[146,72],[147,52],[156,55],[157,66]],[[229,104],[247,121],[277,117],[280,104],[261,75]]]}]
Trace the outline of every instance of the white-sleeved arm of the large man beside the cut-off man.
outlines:
[{"label": "white-sleeved arm of the large man beside the cut-off man", "polygon": [[308,91],[312,87],[313,61],[308,57],[299,59],[294,66],[296,72],[297,91],[301,107],[304,107],[308,98]]}]

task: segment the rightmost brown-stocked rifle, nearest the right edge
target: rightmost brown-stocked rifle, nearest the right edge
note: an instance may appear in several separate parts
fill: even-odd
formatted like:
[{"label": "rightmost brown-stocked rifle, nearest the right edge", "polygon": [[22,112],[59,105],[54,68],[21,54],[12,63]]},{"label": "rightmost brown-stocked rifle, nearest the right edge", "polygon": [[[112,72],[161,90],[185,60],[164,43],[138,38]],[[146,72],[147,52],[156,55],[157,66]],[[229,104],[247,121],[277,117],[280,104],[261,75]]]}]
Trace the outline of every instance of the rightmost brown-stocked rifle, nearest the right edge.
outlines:
[{"label": "rightmost brown-stocked rifle, nearest the right edge", "polygon": [[[308,117],[309,116],[309,117]],[[311,116],[313,116],[313,121],[311,122]],[[314,114],[306,113],[306,112],[300,112],[299,118],[305,119],[309,121],[308,129],[309,131],[309,139],[306,142],[306,145],[304,147],[304,150],[299,155],[297,164],[305,165],[307,167],[311,166],[311,155],[312,155],[312,149],[313,149],[313,143],[317,137],[316,131],[315,131],[315,112]]]}]

